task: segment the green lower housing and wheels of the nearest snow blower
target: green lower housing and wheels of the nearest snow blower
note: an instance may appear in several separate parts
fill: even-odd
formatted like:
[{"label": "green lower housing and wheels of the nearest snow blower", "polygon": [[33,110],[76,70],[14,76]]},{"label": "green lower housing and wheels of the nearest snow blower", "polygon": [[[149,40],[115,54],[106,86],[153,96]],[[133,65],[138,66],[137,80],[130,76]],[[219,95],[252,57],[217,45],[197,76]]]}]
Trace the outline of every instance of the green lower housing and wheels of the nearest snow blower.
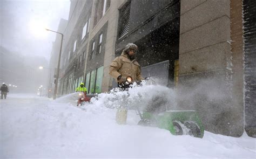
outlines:
[{"label": "green lower housing and wheels of the nearest snow blower", "polygon": [[169,130],[173,135],[190,135],[203,138],[204,127],[195,110],[169,110],[163,113],[140,113],[138,125],[156,126]]}]

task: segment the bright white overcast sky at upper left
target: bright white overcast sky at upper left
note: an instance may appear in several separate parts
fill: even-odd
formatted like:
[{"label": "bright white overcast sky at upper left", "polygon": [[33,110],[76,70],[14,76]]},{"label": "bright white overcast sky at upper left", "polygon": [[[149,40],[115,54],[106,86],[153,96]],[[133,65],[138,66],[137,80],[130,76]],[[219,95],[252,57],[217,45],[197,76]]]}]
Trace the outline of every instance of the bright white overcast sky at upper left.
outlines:
[{"label": "bright white overcast sky at upper left", "polygon": [[1,46],[24,55],[50,58],[60,18],[69,17],[69,0],[1,0]]}]

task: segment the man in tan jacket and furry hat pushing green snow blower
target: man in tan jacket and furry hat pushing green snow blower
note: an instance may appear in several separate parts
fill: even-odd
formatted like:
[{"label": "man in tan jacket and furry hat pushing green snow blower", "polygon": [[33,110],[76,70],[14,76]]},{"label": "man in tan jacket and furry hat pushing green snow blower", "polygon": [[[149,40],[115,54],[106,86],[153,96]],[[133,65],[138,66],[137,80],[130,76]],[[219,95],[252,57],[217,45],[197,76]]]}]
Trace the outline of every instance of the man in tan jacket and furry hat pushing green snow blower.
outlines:
[{"label": "man in tan jacket and furry hat pushing green snow blower", "polygon": [[[125,85],[127,80],[130,83],[144,80],[140,71],[140,65],[135,59],[137,50],[137,45],[133,43],[127,44],[121,56],[116,57],[110,65],[109,74],[116,79],[118,87],[122,90],[127,89],[127,85]],[[116,114],[117,123],[125,124],[126,119],[127,108],[118,108]]]}]

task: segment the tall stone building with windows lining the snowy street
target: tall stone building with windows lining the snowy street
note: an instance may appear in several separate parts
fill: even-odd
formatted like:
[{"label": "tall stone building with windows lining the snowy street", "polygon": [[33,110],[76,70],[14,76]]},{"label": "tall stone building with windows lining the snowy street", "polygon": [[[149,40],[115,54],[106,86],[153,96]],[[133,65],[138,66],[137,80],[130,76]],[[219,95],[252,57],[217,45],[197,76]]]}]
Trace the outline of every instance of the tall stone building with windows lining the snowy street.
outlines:
[{"label": "tall stone building with windows lining the snowy street", "polygon": [[253,1],[70,2],[59,95],[80,82],[89,93],[110,91],[111,61],[135,43],[144,77],[177,90],[171,109],[196,109],[210,132],[255,137]]}]

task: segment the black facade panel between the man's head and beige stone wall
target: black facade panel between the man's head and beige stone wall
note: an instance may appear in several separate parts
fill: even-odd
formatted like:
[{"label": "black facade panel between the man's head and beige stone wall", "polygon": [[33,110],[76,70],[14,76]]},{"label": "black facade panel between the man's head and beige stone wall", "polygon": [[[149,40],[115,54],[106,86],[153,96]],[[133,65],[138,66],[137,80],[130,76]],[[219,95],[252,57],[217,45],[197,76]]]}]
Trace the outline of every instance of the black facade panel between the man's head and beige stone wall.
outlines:
[{"label": "black facade panel between the man's head and beige stone wall", "polygon": [[173,86],[174,61],[179,59],[179,22],[169,22],[135,44],[142,67],[169,60],[169,86]]}]

